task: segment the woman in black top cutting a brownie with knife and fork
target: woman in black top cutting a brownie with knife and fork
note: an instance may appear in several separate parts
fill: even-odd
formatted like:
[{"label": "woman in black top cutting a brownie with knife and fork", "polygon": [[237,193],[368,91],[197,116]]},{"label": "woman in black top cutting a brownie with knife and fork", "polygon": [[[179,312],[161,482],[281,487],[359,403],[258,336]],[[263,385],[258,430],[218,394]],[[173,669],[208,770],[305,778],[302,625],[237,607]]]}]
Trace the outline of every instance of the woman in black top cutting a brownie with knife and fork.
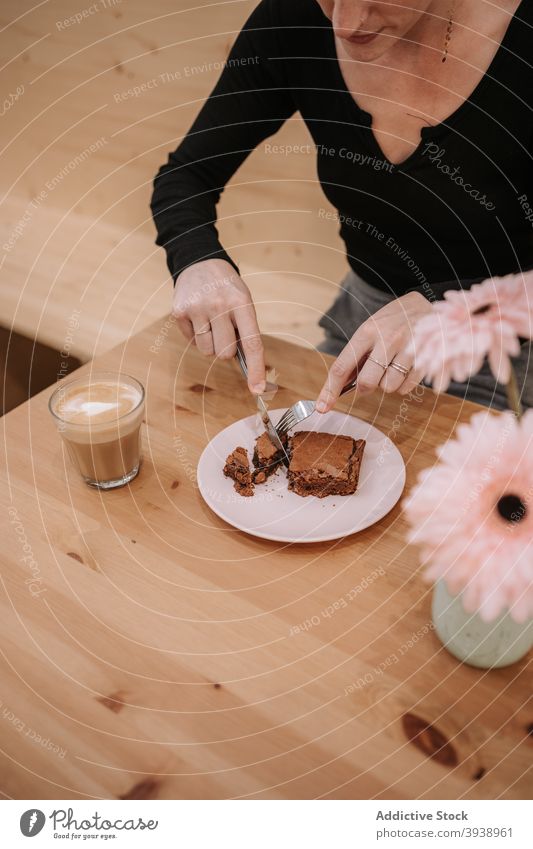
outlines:
[{"label": "woman in black top cutting a brownie with knife and fork", "polygon": [[[261,141],[299,111],[338,210],[350,273],[321,320],[337,356],[326,412],[358,391],[409,392],[413,324],[450,288],[533,267],[533,0],[262,0],[213,93],[154,183],[173,310],[206,355],[246,351],[264,388],[248,288],[216,204]],[[517,362],[533,403],[530,348]],[[454,394],[505,406],[487,368]]]}]

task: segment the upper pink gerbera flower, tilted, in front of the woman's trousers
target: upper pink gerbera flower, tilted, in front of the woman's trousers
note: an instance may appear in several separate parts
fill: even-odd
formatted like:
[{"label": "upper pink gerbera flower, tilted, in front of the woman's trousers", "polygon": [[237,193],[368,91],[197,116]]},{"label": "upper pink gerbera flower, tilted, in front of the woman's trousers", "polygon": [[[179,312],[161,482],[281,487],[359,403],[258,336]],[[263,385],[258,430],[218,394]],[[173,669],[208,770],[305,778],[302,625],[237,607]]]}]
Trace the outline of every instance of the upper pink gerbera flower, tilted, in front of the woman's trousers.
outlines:
[{"label": "upper pink gerbera flower, tilted, in front of the woman's trousers", "polygon": [[477,374],[485,357],[496,380],[507,384],[520,336],[533,338],[533,272],[446,292],[416,324],[410,353],[437,392]]}]

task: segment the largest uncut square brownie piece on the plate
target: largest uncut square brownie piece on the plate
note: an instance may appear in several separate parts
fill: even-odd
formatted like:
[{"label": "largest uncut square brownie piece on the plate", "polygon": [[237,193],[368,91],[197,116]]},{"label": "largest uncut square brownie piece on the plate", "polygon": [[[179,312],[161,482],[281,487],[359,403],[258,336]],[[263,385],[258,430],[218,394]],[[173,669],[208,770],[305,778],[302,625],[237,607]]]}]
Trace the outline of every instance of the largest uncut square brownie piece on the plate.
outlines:
[{"label": "largest uncut square brownie piece on the plate", "polygon": [[364,439],[301,430],[289,440],[289,489],[297,495],[352,495],[357,489]]}]

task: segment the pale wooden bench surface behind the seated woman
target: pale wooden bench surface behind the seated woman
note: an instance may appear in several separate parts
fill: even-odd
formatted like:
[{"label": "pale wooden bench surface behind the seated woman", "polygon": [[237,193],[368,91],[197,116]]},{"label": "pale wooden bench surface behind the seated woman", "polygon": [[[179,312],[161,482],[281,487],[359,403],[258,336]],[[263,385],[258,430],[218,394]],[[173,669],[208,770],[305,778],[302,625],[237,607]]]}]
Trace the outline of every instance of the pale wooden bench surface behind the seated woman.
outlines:
[{"label": "pale wooden bench surface behind the seated woman", "polygon": [[[59,349],[68,339],[85,361],[168,312],[152,181],[255,5],[2,0],[2,90],[22,91],[1,116],[2,324]],[[69,23],[89,7],[97,11]],[[270,143],[223,193],[219,232],[263,330],[314,344],[345,252],[338,223],[323,214],[332,207],[301,118]]]}]

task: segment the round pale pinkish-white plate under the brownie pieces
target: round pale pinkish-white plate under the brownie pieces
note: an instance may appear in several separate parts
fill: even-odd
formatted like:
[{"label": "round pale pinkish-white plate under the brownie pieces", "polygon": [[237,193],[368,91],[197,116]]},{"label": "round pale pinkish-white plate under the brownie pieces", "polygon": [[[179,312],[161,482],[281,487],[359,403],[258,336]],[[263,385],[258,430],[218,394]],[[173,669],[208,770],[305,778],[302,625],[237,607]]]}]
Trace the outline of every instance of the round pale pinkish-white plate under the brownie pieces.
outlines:
[{"label": "round pale pinkish-white plate under the brownie pieces", "polygon": [[[284,410],[270,410],[274,424]],[[228,454],[238,445],[250,460],[255,438],[261,433],[259,417],[249,416],[217,434],[198,463],[198,486],[206,504],[234,528],[279,542],[324,542],[370,527],[392,510],[405,486],[405,464],[392,441],[377,428],[348,416],[314,413],[295,430],[316,430],[366,439],[359,485],[353,495],[302,498],[287,489],[281,468],[255,494],[244,498],[222,469]]]}]

